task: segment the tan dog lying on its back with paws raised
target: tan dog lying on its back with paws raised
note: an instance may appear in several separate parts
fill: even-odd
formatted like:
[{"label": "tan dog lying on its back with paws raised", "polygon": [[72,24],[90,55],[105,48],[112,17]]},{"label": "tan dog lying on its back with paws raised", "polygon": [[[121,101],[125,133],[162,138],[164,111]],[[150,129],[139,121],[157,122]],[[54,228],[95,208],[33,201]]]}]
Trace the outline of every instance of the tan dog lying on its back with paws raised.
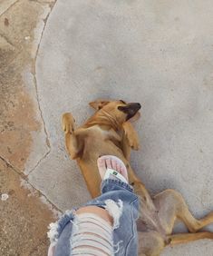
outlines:
[{"label": "tan dog lying on its back with paws raised", "polygon": [[[168,244],[213,239],[212,232],[197,232],[213,222],[213,212],[201,220],[195,219],[181,194],[174,190],[160,192],[151,198],[131,169],[131,149],[138,150],[139,140],[129,120],[140,110],[140,103],[97,100],[90,105],[96,112],[77,129],[73,115],[63,114],[66,147],[71,158],[78,162],[92,198],[100,195],[98,157],[111,154],[125,163],[129,181],[140,197],[140,255],[158,256]],[[184,222],[191,233],[171,234],[176,219]]]}]

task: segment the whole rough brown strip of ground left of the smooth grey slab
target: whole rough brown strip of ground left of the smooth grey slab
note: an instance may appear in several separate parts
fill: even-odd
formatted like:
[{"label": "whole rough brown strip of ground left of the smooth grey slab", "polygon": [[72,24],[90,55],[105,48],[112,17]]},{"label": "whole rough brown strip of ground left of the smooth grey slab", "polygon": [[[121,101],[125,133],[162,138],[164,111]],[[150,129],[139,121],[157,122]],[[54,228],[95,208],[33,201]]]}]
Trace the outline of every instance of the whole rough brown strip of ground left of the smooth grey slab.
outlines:
[{"label": "whole rough brown strip of ground left of the smooth grey slab", "polygon": [[[57,209],[24,174],[33,134],[44,129],[34,62],[55,1],[0,1],[0,255],[46,255]],[[34,88],[24,81],[32,75]],[[34,92],[34,94],[32,94]],[[48,147],[48,140],[46,140]]]}]

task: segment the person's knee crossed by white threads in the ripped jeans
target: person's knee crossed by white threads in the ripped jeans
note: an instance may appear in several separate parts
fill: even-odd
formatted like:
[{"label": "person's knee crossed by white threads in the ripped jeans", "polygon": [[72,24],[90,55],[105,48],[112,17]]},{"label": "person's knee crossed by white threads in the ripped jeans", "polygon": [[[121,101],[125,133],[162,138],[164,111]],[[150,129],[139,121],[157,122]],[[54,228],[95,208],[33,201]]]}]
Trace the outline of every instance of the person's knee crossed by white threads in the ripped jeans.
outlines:
[{"label": "person's knee crossed by white threads in the ripped jeans", "polygon": [[104,219],[107,216],[105,210],[97,208],[99,207],[87,206],[76,211],[70,238],[74,255],[113,254],[112,224]]}]

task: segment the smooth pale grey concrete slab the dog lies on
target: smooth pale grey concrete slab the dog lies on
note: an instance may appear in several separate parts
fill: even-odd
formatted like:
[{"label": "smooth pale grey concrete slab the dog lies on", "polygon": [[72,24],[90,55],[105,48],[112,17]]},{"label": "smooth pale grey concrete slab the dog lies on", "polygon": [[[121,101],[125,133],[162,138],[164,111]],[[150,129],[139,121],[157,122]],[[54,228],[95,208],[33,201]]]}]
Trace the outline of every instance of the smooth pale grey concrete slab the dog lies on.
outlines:
[{"label": "smooth pale grey concrete slab the dog lies on", "polygon": [[[62,210],[88,200],[61,115],[71,111],[80,124],[95,98],[123,99],[142,104],[131,164],[150,192],[178,190],[197,217],[213,210],[212,12],[211,1],[58,0],[36,62],[51,152],[29,181]],[[212,250],[198,241],[162,255]]]}]

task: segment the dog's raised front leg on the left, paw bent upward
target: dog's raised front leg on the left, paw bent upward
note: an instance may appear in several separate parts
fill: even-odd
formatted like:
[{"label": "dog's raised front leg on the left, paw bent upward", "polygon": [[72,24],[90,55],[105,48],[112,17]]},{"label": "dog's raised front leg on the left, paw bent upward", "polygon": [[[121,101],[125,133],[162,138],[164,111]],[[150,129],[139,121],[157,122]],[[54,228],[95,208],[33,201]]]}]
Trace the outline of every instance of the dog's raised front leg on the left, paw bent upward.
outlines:
[{"label": "dog's raised front leg on the left, paw bent upward", "polygon": [[63,113],[63,131],[65,133],[65,144],[72,159],[79,156],[82,151],[82,142],[78,140],[78,134],[74,131],[75,121],[71,113]]}]

